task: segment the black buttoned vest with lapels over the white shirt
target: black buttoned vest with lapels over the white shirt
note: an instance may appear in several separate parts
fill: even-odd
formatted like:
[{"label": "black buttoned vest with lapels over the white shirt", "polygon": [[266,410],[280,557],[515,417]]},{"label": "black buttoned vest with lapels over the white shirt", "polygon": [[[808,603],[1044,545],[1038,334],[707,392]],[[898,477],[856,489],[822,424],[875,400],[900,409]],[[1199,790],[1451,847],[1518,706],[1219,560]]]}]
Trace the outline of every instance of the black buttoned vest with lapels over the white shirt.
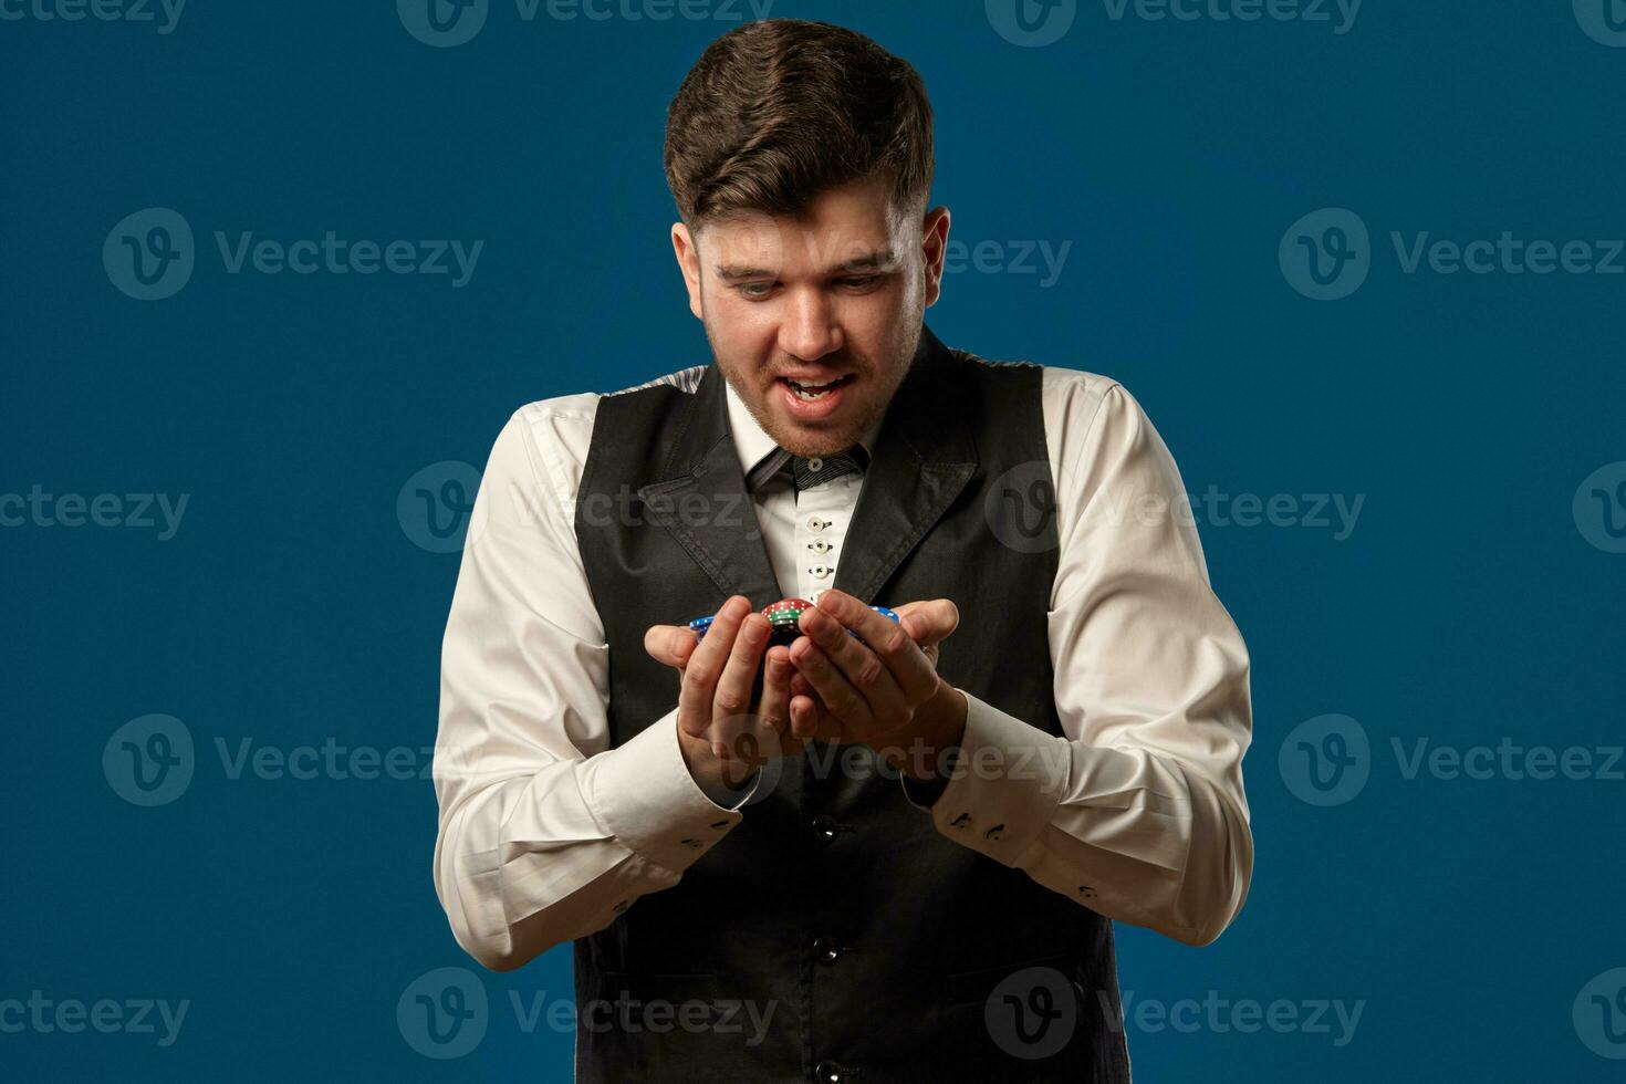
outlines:
[{"label": "black buttoned vest with lapels over the white shirt", "polygon": [[[961,626],[941,645],[940,673],[1060,735],[1046,624],[1054,497],[1037,502],[1037,525],[1031,510],[1015,523],[1033,491],[1006,492],[1006,471],[1021,468],[1016,476],[1054,494],[1042,489],[1041,375],[948,349],[922,327],[834,587],[878,605],[954,600]],[[626,514],[584,514],[618,494],[613,507]],[[715,613],[733,593],[758,609],[785,595],[715,364],[694,387],[654,384],[598,401],[576,507],[620,744],[678,700],[678,673],[644,652],[650,624]],[[1005,544],[1008,530],[1028,541]],[[693,1014],[665,1032],[620,1017],[610,1025],[608,1009],[597,1027],[584,1019],[579,1081],[1128,1081],[1106,918],[938,834],[865,746],[815,743],[777,767],[764,769],[771,793],[745,806],[745,821],[680,884],[576,941],[584,1009],[665,999]],[[1055,975],[1062,996],[1006,998],[1000,983],[1028,969],[1054,969],[1033,973]],[[1011,1021],[995,1017],[1021,1016],[1026,1040],[1065,999],[1072,1012],[1055,1022],[1070,1038],[1054,1055],[1020,1056],[1044,1047],[1013,1043]],[[696,1024],[702,1001],[707,1022]],[[728,1003],[772,1016],[758,1029]]]}]

